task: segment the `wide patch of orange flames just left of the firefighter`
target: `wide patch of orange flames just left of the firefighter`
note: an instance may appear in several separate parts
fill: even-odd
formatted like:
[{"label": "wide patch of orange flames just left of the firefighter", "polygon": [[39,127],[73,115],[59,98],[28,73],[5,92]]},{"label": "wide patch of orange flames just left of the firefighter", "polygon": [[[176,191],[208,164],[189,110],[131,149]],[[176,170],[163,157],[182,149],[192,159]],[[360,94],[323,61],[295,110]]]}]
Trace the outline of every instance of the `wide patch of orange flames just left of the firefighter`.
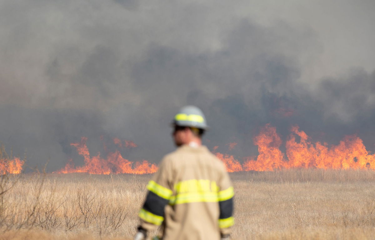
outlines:
[{"label": "wide patch of orange flames just left of the firefighter", "polygon": [[[132,173],[132,174],[146,174],[157,171],[157,166],[144,160],[143,162],[130,162],[124,159],[120,151],[108,153],[107,158],[104,159],[98,153],[97,156],[90,157],[89,149],[86,145],[87,138],[81,138],[81,142],[72,143],[71,145],[77,149],[78,154],[84,157],[84,166],[74,167],[72,159],[68,160],[65,168],[60,169],[57,173],[72,173],[72,172],[87,172],[90,174],[118,174],[118,173]],[[133,164],[135,165],[133,168]]]}]

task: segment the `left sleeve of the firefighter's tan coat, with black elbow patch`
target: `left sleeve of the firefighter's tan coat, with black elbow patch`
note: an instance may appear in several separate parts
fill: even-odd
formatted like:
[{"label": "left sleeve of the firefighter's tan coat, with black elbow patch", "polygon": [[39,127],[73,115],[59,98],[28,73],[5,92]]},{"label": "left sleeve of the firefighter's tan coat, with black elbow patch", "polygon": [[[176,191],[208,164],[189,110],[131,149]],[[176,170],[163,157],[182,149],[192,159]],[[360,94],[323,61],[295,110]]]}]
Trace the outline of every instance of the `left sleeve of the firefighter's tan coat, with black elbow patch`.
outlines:
[{"label": "left sleeve of the firefighter's tan coat, with black elbow patch", "polygon": [[141,210],[138,213],[140,226],[153,230],[164,221],[164,208],[172,196],[171,164],[164,158],[158,171],[147,184],[147,195]]}]

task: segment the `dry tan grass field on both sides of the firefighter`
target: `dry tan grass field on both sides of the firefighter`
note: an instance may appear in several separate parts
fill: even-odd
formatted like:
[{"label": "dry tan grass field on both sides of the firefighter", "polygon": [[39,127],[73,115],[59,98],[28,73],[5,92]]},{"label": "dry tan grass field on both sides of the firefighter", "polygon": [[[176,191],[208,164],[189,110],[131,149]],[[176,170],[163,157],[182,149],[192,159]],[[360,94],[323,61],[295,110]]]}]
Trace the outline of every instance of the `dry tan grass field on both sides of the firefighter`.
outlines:
[{"label": "dry tan grass field on both sides of the firefighter", "polygon": [[[375,171],[230,175],[236,192],[232,239],[375,239]],[[3,176],[0,240],[132,239],[150,177]]]}]

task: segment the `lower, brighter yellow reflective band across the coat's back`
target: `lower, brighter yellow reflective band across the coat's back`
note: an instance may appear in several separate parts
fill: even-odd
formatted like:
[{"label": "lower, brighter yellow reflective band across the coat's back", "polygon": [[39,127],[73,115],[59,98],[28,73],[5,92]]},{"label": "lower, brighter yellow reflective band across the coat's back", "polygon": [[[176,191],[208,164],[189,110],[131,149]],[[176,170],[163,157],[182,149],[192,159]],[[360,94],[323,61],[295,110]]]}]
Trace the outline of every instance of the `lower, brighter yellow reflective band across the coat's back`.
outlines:
[{"label": "lower, brighter yellow reflective band across the coat's back", "polygon": [[190,202],[217,202],[216,192],[185,192],[171,196],[170,205]]}]

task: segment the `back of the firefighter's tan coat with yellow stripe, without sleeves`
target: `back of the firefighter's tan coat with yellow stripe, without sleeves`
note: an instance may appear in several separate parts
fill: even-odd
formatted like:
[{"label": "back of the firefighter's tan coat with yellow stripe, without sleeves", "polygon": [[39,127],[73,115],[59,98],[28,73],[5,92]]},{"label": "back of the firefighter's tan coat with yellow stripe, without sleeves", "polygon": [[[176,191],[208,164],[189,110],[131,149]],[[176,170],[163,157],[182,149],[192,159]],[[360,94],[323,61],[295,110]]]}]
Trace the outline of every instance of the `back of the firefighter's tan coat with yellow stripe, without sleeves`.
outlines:
[{"label": "back of the firefighter's tan coat with yellow stripe, without sleeves", "polygon": [[218,192],[230,187],[223,163],[205,146],[184,145],[165,159],[173,195],[165,208],[164,240],[220,239]]}]

